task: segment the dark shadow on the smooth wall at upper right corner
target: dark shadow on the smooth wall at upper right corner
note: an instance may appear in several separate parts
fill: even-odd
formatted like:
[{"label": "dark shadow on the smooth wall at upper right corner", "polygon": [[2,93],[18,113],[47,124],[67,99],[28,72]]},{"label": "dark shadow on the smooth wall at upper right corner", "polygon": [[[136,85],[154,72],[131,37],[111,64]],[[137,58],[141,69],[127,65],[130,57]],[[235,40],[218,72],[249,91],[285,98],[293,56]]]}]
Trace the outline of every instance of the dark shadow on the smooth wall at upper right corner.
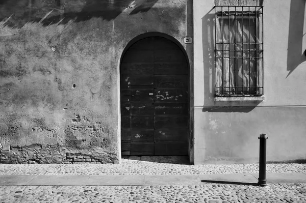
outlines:
[{"label": "dark shadow on the smooth wall at upper right corner", "polygon": [[298,65],[306,61],[304,50],[302,50],[304,15],[305,0],[291,0],[287,55],[287,70],[289,73],[287,77],[298,67]]}]

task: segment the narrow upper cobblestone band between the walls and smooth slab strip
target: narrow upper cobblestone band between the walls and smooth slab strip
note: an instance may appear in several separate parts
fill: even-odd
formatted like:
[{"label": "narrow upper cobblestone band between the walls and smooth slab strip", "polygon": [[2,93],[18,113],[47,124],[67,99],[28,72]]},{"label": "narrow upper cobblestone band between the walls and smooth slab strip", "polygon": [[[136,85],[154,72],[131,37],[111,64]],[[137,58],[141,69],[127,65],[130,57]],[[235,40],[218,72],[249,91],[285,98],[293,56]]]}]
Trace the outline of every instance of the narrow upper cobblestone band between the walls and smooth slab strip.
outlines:
[{"label": "narrow upper cobblestone band between the walls and smooth slab strip", "polygon": [[[122,160],[120,164],[0,164],[0,175],[199,175],[258,173],[259,164],[185,165]],[[268,172],[305,172],[306,164],[267,164]]]}]

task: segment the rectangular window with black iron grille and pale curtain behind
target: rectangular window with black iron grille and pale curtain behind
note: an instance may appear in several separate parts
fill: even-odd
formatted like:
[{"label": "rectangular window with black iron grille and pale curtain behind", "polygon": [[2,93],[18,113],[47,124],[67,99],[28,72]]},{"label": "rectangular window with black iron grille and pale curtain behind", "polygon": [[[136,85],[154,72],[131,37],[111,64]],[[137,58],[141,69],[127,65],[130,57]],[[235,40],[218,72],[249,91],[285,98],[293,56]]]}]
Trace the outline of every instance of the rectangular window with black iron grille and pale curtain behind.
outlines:
[{"label": "rectangular window with black iron grille and pale curtain behind", "polygon": [[215,7],[216,96],[261,96],[263,7]]}]

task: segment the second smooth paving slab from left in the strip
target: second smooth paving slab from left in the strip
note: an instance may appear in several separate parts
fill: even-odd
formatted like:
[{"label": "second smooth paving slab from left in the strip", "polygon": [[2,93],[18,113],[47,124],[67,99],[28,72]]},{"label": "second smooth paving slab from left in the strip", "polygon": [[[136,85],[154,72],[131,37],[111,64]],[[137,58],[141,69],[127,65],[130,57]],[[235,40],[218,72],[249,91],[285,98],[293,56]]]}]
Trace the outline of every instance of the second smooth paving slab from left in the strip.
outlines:
[{"label": "second smooth paving slab from left in the strip", "polygon": [[27,185],[85,185],[89,176],[38,175]]}]

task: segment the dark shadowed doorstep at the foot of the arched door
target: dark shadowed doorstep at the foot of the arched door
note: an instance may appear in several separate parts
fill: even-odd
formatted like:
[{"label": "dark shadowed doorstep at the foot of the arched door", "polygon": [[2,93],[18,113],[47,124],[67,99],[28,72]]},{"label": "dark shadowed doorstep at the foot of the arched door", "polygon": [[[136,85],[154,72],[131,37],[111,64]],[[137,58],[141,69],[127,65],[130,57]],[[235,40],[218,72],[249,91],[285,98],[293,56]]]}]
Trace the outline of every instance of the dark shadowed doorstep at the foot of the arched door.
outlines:
[{"label": "dark shadowed doorstep at the foot of the arched door", "polygon": [[122,159],[155,163],[190,164],[188,156],[122,156]]}]

